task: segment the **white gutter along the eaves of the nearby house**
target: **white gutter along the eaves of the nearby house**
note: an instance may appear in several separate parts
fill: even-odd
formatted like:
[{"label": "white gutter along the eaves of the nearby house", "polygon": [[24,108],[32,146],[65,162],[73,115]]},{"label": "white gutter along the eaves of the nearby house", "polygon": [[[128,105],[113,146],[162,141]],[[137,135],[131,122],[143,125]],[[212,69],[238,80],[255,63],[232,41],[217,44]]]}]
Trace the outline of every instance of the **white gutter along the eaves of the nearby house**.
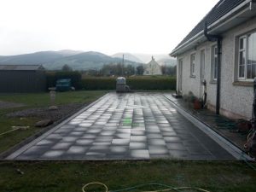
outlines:
[{"label": "white gutter along the eaves of the nearby house", "polygon": [[[218,26],[219,24],[223,24],[224,20],[228,20],[239,9],[245,7],[248,3],[249,3],[250,10],[251,10],[253,8],[253,3],[255,3],[255,0],[246,0],[245,2],[241,3],[235,9],[232,9],[228,14],[224,15],[220,19],[218,19],[215,22],[213,22],[210,26],[208,26],[208,31],[211,32],[216,26]],[[176,49],[173,49],[172,53],[170,53],[170,55],[171,56],[177,56],[177,55],[183,53],[184,52],[183,50],[188,49],[189,45],[196,44],[196,42],[198,42],[200,40],[201,41],[206,40],[206,39],[203,39],[203,38],[204,38],[204,30],[202,30],[201,32],[198,32],[193,38],[189,38],[188,41],[186,41],[185,43],[181,44]]]}]

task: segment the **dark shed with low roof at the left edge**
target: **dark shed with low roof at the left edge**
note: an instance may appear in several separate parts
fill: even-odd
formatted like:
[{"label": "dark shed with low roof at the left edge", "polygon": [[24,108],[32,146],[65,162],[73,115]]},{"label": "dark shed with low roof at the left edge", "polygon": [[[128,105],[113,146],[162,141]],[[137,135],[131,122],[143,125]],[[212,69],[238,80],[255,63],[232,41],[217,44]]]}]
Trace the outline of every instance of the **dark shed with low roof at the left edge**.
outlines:
[{"label": "dark shed with low roof at the left edge", "polygon": [[41,65],[0,65],[0,92],[41,92],[46,75]]}]

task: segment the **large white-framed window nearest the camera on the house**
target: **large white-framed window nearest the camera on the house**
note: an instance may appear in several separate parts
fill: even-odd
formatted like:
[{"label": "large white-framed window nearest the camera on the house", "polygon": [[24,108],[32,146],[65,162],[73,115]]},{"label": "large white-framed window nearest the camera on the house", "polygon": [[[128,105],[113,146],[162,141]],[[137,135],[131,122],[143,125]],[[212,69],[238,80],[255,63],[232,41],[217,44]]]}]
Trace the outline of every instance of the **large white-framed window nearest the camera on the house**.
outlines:
[{"label": "large white-framed window nearest the camera on the house", "polygon": [[252,80],[256,77],[256,32],[239,38],[238,79]]}]

